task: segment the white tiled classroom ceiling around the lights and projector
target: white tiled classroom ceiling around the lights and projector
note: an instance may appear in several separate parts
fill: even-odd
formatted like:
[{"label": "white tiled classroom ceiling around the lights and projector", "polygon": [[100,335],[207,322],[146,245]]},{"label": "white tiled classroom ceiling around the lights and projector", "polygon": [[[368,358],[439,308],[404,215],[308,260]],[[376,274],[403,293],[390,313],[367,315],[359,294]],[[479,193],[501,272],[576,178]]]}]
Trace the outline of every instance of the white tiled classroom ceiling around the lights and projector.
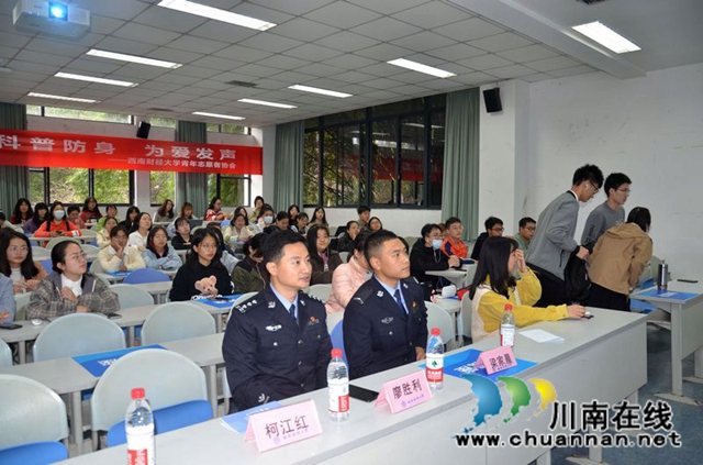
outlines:
[{"label": "white tiled classroom ceiling around the lights and projector", "polygon": [[[266,20],[266,32],[157,7],[159,0],[68,0],[91,12],[78,40],[18,31],[0,0],[0,101],[264,126],[454,91],[505,79],[538,81],[603,70],[618,78],[703,62],[703,1],[605,0],[198,0]],[[616,55],[572,25],[599,20],[643,49]],[[183,64],[157,68],[88,56],[91,48]],[[406,58],[455,73],[435,78],[391,66]],[[0,69],[2,71],[3,69]],[[9,71],[11,70],[11,71]],[[55,77],[130,80],[124,88]],[[233,86],[249,82],[256,87]],[[339,99],[288,89],[352,93]],[[99,100],[76,103],[41,92]],[[276,109],[242,98],[293,104]]]}]

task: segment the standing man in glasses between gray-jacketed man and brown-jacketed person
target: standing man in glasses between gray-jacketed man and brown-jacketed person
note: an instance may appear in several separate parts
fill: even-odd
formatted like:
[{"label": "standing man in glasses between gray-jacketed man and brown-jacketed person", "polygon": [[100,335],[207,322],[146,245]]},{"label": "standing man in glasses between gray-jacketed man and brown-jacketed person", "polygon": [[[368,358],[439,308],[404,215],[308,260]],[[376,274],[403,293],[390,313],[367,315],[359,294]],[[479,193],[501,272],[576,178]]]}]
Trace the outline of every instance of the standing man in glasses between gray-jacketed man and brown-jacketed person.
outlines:
[{"label": "standing man in glasses between gray-jacketed man and brown-jacketed person", "polygon": [[629,197],[629,185],[632,181],[622,173],[611,173],[605,178],[605,200],[600,206],[595,207],[589,218],[585,220],[585,226],[583,226],[583,236],[581,236],[581,244],[595,245],[599,237],[603,233],[615,224],[625,222],[625,209],[623,204]]}]

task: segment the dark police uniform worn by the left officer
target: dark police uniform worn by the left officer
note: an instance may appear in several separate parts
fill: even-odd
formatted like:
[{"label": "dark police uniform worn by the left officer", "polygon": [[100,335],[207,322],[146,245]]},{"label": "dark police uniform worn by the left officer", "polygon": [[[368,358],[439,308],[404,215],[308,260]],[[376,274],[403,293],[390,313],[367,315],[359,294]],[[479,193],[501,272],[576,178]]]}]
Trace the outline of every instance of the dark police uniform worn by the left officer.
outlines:
[{"label": "dark police uniform worn by the left officer", "polygon": [[325,306],[298,292],[298,322],[267,286],[235,307],[222,354],[239,410],[327,386],[332,343]]}]

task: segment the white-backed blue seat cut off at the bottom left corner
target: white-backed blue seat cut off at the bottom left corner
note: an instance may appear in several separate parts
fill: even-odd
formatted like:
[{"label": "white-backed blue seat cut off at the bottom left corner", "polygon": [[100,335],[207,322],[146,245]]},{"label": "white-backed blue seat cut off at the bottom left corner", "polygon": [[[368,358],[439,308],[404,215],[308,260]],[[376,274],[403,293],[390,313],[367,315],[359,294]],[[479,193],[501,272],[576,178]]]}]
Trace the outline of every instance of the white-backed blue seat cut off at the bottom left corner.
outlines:
[{"label": "white-backed blue seat cut off at the bottom left corner", "polygon": [[56,392],[33,379],[0,375],[0,463],[49,464],[68,458],[59,441],[68,436],[66,405]]}]

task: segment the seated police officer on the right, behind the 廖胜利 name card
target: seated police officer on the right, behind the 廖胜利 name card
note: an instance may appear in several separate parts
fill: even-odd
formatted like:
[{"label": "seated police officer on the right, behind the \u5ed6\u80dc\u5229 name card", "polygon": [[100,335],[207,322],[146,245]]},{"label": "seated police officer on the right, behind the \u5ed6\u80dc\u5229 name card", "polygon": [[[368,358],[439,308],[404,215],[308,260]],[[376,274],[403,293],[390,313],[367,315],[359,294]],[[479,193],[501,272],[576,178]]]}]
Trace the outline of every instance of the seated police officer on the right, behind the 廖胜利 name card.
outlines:
[{"label": "seated police officer on the right, behind the \u5ed6\u80dc\u5229 name card", "polygon": [[364,254],[373,276],[344,311],[344,347],[352,379],[425,358],[427,309],[410,276],[408,247],[390,231],[371,234]]}]

